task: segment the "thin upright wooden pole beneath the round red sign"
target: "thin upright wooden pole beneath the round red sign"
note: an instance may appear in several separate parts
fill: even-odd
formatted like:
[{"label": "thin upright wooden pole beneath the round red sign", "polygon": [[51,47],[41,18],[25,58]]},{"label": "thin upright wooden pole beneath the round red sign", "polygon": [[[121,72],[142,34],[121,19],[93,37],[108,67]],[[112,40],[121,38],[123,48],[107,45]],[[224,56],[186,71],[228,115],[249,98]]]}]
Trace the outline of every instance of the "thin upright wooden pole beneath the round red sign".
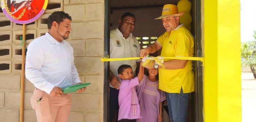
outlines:
[{"label": "thin upright wooden pole beneath the round red sign", "polygon": [[24,79],[25,79],[25,48],[26,48],[25,40],[26,40],[26,24],[23,24],[22,61],[21,61],[20,122],[23,122],[23,112],[24,112]]}]

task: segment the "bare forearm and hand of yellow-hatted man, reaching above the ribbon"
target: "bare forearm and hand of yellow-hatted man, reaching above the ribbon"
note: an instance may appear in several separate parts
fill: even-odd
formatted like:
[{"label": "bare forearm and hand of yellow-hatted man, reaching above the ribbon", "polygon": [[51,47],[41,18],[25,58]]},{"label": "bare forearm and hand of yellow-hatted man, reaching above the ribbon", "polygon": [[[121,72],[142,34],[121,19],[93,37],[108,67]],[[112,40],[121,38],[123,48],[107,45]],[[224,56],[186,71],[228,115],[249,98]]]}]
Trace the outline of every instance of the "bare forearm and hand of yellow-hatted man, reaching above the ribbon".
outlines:
[{"label": "bare forearm and hand of yellow-hatted man, reaching above the ribbon", "polygon": [[149,45],[147,48],[140,50],[140,57],[145,57],[150,53],[155,53],[156,51],[160,50],[162,47],[157,42]]}]

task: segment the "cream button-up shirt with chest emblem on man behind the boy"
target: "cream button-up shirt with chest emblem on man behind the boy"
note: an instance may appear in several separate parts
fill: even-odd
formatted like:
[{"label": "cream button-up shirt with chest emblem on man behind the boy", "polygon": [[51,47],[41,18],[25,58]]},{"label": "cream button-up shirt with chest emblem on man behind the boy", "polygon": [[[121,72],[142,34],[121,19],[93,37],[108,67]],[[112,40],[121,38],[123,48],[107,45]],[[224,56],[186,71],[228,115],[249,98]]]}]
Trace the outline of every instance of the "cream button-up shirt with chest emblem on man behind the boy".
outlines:
[{"label": "cream button-up shirt with chest emblem on man behind the boy", "polygon": [[[110,31],[110,58],[140,57],[140,49],[140,44],[132,33],[125,39],[118,28]],[[118,76],[118,67],[122,64],[128,64],[132,67],[133,74],[136,76],[136,62],[139,61],[141,60],[110,61],[110,70]],[[113,88],[110,83],[109,86]]]}]

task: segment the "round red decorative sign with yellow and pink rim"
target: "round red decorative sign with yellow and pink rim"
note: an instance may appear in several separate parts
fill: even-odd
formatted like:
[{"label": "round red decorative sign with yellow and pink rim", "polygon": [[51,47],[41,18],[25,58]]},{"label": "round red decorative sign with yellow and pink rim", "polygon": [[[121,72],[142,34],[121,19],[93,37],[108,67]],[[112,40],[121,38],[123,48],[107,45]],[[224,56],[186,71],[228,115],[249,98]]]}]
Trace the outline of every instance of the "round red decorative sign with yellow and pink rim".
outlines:
[{"label": "round red decorative sign with yellow and pink rim", "polygon": [[45,11],[48,0],[1,0],[5,16],[18,24],[36,21]]}]

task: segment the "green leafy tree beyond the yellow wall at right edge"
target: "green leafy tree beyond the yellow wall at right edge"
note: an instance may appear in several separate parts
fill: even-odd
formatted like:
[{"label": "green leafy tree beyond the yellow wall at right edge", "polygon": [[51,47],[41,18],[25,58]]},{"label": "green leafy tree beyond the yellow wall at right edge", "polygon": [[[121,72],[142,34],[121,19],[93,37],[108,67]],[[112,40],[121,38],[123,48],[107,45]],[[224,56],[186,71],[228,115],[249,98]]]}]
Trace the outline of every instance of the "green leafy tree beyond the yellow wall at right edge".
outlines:
[{"label": "green leafy tree beyond the yellow wall at right edge", "polygon": [[[253,37],[256,39],[256,31]],[[250,66],[254,78],[256,78],[256,41],[241,43],[241,62],[243,66]]]}]

